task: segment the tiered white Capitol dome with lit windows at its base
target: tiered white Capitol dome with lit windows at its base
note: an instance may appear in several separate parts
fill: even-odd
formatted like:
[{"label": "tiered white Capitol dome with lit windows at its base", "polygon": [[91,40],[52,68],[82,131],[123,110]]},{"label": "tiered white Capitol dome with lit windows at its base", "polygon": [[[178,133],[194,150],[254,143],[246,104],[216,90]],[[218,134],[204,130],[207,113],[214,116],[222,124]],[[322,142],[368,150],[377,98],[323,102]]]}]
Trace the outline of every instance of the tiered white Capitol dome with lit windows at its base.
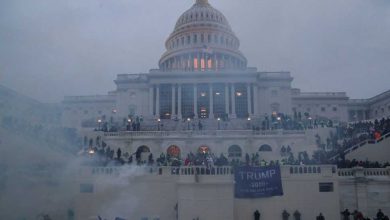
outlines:
[{"label": "tiered white Capitol dome with lit windows at its base", "polygon": [[239,46],[225,16],[207,0],[196,0],[176,22],[159,67],[165,72],[243,70],[247,60]]}]

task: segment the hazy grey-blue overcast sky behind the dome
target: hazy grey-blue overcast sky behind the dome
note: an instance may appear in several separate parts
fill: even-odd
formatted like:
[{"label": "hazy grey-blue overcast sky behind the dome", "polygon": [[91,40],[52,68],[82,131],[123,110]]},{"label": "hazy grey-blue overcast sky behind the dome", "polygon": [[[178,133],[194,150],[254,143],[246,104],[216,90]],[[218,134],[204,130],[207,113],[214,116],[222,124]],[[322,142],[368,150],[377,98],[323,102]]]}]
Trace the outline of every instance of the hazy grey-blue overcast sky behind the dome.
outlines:
[{"label": "hazy grey-blue overcast sky behind the dome", "polygon": [[[43,102],[106,94],[156,68],[195,0],[0,0],[0,84]],[[249,66],[290,71],[302,91],[390,89],[389,0],[210,0]]]}]

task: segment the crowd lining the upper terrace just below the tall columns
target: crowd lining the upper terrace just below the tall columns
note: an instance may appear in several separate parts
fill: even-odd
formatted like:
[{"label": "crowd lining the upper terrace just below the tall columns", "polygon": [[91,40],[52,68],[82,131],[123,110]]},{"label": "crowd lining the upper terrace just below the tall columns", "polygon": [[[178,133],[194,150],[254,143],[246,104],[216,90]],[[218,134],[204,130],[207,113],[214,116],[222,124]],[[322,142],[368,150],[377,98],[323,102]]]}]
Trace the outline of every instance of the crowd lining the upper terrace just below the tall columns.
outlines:
[{"label": "crowd lining the upper terrace just below the tall columns", "polygon": [[[203,122],[208,121],[206,127]],[[234,122],[227,116],[219,118],[194,118],[194,116],[175,119],[144,120],[143,116],[129,115],[127,118],[107,118],[103,115],[97,122],[94,120],[84,121],[83,126],[95,126],[96,131],[117,132],[117,131],[171,131],[171,130],[306,130],[318,127],[333,127],[333,121],[329,119],[312,118],[309,114],[302,115],[294,113],[289,116],[282,113],[264,115],[261,118],[245,117]],[[214,124],[214,125],[211,125]]]}]

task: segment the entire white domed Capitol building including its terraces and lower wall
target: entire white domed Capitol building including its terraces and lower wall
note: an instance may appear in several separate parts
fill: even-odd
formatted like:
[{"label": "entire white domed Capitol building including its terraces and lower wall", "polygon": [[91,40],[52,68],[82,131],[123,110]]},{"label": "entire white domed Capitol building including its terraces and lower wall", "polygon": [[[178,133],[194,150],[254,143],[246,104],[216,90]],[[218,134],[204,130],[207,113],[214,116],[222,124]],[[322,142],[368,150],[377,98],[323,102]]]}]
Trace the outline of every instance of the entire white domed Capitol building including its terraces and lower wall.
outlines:
[{"label": "entire white domed Capitol building including its terraces and lower wall", "polygon": [[[196,0],[178,18],[165,48],[158,69],[119,74],[116,89],[106,95],[65,97],[63,125],[77,128],[85,140],[98,139],[145,161],[151,154],[185,158],[207,153],[226,155],[229,161],[259,154],[270,163],[287,160],[287,147],[295,158],[303,152],[311,157],[321,140],[337,132],[334,125],[390,116],[390,90],[370,99],[301,92],[292,87],[290,72],[248,67],[227,18],[207,0]],[[289,124],[298,118],[300,123]],[[354,146],[345,157],[387,162],[390,135],[383,135]],[[139,170],[147,172],[140,175]],[[76,219],[100,214],[109,219],[244,220],[255,219],[257,210],[268,220],[282,219],[283,211],[289,219],[298,219],[294,213],[299,212],[303,220],[320,213],[336,220],[345,209],[374,216],[379,208],[390,214],[389,167],[281,165],[283,193],[265,198],[237,198],[231,166],[133,171],[83,167],[74,181]],[[110,182],[120,183],[107,189]]]}]

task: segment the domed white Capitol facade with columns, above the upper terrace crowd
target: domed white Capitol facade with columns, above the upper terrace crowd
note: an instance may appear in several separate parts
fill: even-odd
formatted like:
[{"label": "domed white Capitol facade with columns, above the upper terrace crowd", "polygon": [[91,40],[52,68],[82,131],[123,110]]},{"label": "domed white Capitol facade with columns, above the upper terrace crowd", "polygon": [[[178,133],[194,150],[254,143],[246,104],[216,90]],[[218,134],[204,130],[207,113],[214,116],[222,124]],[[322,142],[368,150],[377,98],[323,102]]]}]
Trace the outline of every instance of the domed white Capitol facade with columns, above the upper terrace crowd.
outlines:
[{"label": "domed white Capitol facade with columns, above the upper terrace crowd", "polygon": [[197,1],[178,19],[159,68],[120,74],[108,95],[65,97],[63,122],[96,124],[103,116],[145,119],[261,118],[300,112],[312,118],[353,121],[388,116],[390,93],[350,100],[346,93],[304,93],[289,72],[247,67],[240,41],[225,16]]}]

